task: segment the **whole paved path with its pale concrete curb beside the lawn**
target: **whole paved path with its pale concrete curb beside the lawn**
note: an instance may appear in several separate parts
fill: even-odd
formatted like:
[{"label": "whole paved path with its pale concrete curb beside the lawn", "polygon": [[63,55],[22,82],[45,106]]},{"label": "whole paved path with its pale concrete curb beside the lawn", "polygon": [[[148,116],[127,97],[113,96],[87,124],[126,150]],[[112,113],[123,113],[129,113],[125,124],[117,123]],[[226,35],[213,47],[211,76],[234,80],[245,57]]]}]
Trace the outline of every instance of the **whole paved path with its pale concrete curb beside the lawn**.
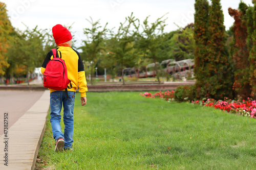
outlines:
[{"label": "whole paved path with its pale concrete curb beside the lawn", "polygon": [[[34,169],[46,127],[50,91],[0,90],[0,169]],[[5,114],[8,112],[8,115]]]}]

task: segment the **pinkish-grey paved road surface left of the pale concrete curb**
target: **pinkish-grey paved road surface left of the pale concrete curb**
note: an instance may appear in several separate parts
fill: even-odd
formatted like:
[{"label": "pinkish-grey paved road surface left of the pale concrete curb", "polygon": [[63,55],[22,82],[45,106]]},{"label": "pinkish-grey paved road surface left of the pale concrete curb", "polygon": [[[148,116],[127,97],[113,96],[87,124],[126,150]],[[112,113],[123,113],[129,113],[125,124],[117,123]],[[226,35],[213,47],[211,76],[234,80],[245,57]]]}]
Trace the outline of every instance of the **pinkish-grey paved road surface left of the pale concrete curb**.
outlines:
[{"label": "pinkish-grey paved road surface left of the pale concrete curb", "polygon": [[0,90],[0,136],[4,133],[5,113],[8,112],[8,127],[10,128],[43,93],[44,91]]}]

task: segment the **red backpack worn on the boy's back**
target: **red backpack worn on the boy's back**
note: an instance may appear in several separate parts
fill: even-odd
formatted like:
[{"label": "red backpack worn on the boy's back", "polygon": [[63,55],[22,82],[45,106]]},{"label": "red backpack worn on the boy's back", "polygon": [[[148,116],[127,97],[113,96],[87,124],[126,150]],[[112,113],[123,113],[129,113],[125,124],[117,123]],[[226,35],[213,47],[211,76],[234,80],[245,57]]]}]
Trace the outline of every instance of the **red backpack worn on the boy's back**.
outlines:
[{"label": "red backpack worn on the boy's back", "polygon": [[[68,71],[65,61],[61,59],[60,51],[56,48],[51,50],[53,53],[53,59],[49,60],[44,72],[44,86],[54,90],[63,90],[72,88],[71,80],[68,79]],[[58,52],[60,57],[58,56]],[[70,84],[70,87],[68,86]]]}]

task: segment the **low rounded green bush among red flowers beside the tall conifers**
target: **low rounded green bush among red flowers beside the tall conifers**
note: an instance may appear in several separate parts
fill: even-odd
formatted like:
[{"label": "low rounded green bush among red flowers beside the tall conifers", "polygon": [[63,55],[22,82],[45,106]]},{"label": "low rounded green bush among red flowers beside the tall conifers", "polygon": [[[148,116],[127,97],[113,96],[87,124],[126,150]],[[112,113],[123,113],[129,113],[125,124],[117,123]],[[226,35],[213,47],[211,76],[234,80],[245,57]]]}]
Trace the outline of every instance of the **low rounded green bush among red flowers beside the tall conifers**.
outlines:
[{"label": "low rounded green bush among red flowers beside the tall conifers", "polygon": [[178,86],[174,92],[174,99],[179,102],[192,101],[196,99],[196,86]]}]

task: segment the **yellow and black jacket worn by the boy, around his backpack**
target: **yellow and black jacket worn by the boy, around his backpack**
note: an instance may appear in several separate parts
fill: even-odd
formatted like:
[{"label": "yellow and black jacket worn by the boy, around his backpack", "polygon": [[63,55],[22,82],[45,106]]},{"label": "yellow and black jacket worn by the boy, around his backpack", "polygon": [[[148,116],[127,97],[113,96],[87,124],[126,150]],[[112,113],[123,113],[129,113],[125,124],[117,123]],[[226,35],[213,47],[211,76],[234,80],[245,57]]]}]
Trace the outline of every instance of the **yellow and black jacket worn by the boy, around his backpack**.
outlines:
[{"label": "yellow and black jacket worn by the boy, around his backpack", "polygon": [[[86,92],[88,91],[87,82],[86,82],[86,74],[84,72],[82,59],[80,54],[74,50],[69,44],[62,43],[57,47],[57,51],[61,52],[61,58],[65,61],[68,71],[68,79],[71,80],[72,88],[68,91],[76,91],[79,86],[79,92],[81,94],[81,98],[86,96]],[[48,52],[44,63],[41,66],[41,72],[44,74],[46,70],[46,65],[49,60],[53,59],[52,52]],[[56,91],[54,89],[50,89],[50,92]],[[63,90],[65,91],[65,89]]]}]

